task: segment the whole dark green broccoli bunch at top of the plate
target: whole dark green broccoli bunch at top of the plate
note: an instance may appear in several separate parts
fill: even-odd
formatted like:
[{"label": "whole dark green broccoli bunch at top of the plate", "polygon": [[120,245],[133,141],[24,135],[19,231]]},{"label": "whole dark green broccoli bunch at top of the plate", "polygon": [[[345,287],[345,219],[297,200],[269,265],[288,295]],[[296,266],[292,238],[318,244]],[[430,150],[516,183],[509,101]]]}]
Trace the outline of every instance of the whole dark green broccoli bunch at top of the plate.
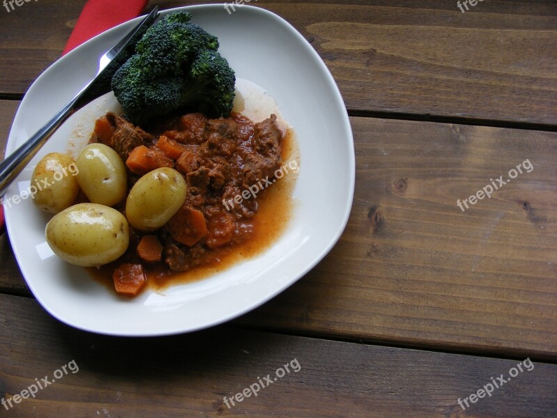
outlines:
[{"label": "whole dark green broccoli bunch at top of the plate", "polygon": [[186,105],[207,116],[227,116],[235,75],[218,52],[216,37],[171,13],[148,29],[112,78],[112,89],[130,121],[139,123]]}]

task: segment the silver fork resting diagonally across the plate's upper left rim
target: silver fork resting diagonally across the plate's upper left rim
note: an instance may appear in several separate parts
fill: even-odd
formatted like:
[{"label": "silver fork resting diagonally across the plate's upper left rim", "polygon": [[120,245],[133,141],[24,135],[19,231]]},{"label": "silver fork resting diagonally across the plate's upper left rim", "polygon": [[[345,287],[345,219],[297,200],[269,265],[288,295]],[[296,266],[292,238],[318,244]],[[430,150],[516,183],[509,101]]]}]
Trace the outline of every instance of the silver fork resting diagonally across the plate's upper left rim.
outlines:
[{"label": "silver fork resting diagonally across the plate's upper left rim", "polygon": [[[145,25],[152,25],[157,16],[159,8],[155,7],[151,13],[149,13],[137,26],[127,33],[120,42],[114,45],[109,51],[104,53],[99,59],[99,70],[97,75],[89,82],[84,88],[77,93],[77,95],[72,98],[65,106],[58,111],[45,125],[35,133],[31,138],[19,146],[17,150],[8,155],[3,162],[0,163],[0,196],[3,196],[6,192],[6,188],[12,183],[12,181],[17,177],[17,175],[24,169],[24,167],[29,163],[31,158],[40,150],[40,148],[45,144],[45,142],[56,132],[58,127],[79,107],[77,106],[79,100],[88,93],[88,89],[93,85],[96,79],[99,78],[101,73],[107,65],[118,56],[120,51],[125,48],[128,42],[134,38],[135,34],[141,30]],[[92,98],[89,98],[92,100]],[[79,103],[83,105],[84,103]]]}]

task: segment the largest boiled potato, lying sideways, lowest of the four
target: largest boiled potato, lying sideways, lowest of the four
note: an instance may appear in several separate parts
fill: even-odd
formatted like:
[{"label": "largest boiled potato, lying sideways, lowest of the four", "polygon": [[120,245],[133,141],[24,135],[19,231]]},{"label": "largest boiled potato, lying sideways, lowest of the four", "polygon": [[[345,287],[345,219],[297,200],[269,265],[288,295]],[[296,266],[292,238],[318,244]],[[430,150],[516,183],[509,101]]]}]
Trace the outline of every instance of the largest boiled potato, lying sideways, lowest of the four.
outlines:
[{"label": "largest boiled potato, lying sideways, lowest of the four", "polygon": [[130,243],[125,216],[97,203],[79,203],[54,215],[45,235],[54,254],[84,267],[116,260]]}]

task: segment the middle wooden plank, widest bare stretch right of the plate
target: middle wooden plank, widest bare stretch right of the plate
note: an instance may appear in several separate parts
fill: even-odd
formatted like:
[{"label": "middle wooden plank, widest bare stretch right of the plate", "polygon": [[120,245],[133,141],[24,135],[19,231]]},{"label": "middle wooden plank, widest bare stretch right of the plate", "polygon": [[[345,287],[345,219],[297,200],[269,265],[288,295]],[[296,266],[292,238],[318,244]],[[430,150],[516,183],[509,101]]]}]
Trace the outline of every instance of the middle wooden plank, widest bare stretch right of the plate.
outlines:
[{"label": "middle wooden plank, widest bare stretch right of the plate", "polygon": [[[556,358],[557,134],[351,121],[356,191],[343,237],[306,277],[240,323]],[[457,199],[524,160],[531,172],[458,208]],[[29,294],[8,242],[0,243],[0,291]]]}]

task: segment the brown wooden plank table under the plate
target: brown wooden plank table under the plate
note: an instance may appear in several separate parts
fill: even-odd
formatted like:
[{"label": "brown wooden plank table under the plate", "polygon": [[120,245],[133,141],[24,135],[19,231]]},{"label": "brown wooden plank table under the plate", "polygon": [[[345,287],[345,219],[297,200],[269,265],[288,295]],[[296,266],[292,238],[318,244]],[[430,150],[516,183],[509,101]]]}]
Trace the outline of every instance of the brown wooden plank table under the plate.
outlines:
[{"label": "brown wooden plank table under the plate", "polygon": [[[0,9],[2,147],[84,3]],[[469,0],[465,13],[455,0],[251,3],[292,23],[343,94],[356,190],[340,242],[231,323],[126,339],[50,317],[3,235],[0,397],[15,401],[72,360],[79,372],[0,415],[555,417],[557,3]],[[491,198],[469,198],[519,164]]]}]

